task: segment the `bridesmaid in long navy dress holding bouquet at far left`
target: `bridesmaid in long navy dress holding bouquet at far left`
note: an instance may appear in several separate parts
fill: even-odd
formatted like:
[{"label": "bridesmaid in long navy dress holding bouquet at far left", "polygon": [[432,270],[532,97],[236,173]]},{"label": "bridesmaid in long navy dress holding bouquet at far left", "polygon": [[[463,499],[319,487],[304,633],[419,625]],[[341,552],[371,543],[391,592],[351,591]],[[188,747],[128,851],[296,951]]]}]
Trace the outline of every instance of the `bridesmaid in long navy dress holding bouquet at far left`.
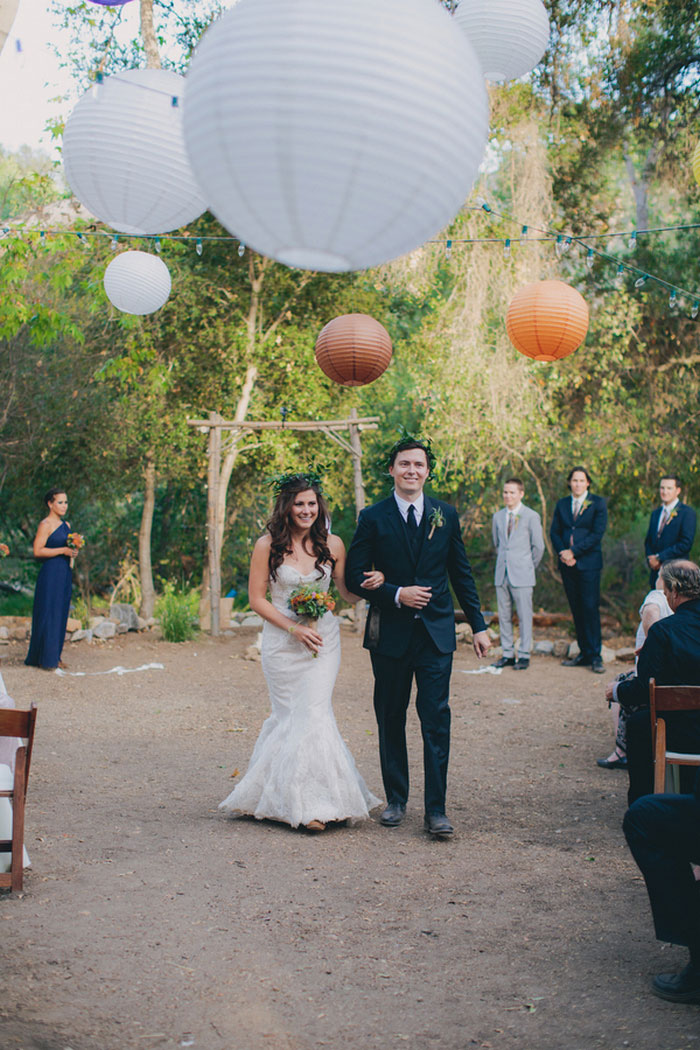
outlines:
[{"label": "bridesmaid in long navy dress holding bouquet at far left", "polygon": [[76,551],[66,546],[70,526],[63,518],[68,497],[62,488],[51,488],[44,497],[48,514],[40,522],[34,541],[34,556],[44,564],[34,592],[31,638],[25,664],[46,671],[62,667],[61,651],[66,633],[72,576],[70,560]]}]

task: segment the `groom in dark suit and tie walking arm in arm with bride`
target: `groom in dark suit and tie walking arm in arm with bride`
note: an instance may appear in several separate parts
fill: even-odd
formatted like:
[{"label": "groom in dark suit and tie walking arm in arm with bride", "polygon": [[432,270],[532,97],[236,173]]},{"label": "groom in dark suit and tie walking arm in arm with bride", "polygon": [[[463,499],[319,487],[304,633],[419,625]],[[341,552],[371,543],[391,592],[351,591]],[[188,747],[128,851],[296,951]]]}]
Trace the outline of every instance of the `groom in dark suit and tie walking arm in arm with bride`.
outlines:
[{"label": "groom in dark suit and tie walking arm in arm with bride", "polygon": [[455,648],[451,583],[471,625],[474,651],[490,642],[454,507],[423,492],[434,457],[429,442],[404,438],[389,453],[394,492],[360,513],[347,552],[345,582],[354,593],[373,567],[385,582],[367,594],[364,647],[375,675],[375,714],[386,791],[381,822],[398,826],[406,813],[406,711],[413,676],[423,734],[425,830],[439,838],[453,827],[445,816],[449,756],[449,679]]}]

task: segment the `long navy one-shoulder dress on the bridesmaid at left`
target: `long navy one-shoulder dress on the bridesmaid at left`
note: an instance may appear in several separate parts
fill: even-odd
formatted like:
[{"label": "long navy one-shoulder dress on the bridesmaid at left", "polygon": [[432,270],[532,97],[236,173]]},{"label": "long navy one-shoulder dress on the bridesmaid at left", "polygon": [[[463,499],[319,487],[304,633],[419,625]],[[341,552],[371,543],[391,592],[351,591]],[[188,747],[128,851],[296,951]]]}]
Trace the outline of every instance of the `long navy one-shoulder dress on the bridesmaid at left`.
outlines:
[{"label": "long navy one-shoulder dress on the bridesmaid at left", "polygon": [[[47,547],[65,547],[70,529],[61,522],[48,540]],[[54,668],[59,666],[66,634],[72,575],[67,554],[57,554],[43,560],[34,592],[31,638],[25,664],[30,667]]]}]

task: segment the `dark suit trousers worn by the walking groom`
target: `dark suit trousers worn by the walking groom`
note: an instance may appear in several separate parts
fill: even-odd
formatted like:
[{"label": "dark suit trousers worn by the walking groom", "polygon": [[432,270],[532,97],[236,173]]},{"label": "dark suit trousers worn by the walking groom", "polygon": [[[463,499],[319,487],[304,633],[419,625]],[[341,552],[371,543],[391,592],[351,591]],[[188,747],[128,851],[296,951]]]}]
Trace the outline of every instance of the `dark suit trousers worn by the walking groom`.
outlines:
[{"label": "dark suit trousers worn by the walking groom", "polygon": [[443,814],[449,759],[449,680],[452,653],[441,653],[423,622],[415,620],[410,645],[404,656],[372,654],[375,674],[375,714],[379,730],[379,756],[387,802],[406,804],[408,755],[406,711],[416,678],[416,709],[423,735],[425,812]]}]

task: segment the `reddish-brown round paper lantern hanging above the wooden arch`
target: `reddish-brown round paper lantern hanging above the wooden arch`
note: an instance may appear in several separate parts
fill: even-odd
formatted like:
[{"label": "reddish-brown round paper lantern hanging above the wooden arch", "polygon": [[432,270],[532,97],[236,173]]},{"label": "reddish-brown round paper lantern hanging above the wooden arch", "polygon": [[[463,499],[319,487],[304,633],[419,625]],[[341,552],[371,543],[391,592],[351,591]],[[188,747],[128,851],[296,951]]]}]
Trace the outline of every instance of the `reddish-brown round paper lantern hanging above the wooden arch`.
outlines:
[{"label": "reddish-brown round paper lantern hanging above the wooden arch", "polygon": [[378,379],[391,360],[391,340],[383,324],[367,314],[342,314],[321,329],[316,361],[328,379],[343,386],[364,386]]}]

